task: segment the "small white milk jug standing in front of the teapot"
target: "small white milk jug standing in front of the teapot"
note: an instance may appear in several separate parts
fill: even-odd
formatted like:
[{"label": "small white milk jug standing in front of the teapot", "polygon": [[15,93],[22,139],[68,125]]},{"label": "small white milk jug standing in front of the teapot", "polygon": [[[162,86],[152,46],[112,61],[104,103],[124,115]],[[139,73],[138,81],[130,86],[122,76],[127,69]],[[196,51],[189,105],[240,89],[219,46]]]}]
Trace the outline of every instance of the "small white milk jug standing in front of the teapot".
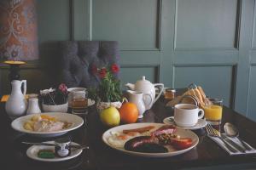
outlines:
[{"label": "small white milk jug standing in front of the teapot", "polygon": [[[127,90],[127,93],[129,94],[129,102],[137,105],[137,110],[139,111],[138,118],[143,118],[143,113],[146,111],[145,104],[143,101],[143,93],[132,90]],[[148,97],[151,98],[150,95]]]}]

